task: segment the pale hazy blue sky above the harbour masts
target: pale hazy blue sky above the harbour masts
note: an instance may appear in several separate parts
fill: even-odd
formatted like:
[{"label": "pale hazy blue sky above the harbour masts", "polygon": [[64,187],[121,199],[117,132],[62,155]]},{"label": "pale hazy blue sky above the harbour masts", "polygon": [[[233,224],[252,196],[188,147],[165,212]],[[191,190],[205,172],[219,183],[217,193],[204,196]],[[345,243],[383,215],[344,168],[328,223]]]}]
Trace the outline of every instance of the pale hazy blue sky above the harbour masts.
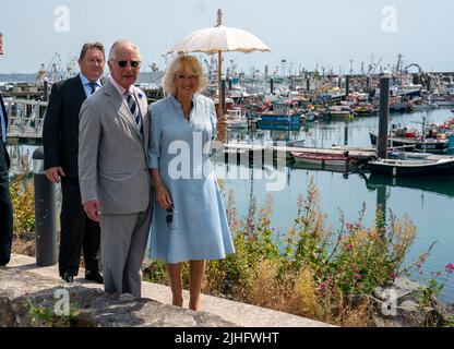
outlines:
[{"label": "pale hazy blue sky above the harbour masts", "polygon": [[[65,67],[86,41],[119,38],[140,48],[142,71],[189,33],[224,24],[254,34],[273,52],[224,55],[238,71],[315,68],[359,72],[372,61],[454,71],[452,0],[0,0],[0,73],[33,73],[58,52]],[[206,56],[199,56],[202,59]],[[287,63],[284,64],[283,60]]]}]

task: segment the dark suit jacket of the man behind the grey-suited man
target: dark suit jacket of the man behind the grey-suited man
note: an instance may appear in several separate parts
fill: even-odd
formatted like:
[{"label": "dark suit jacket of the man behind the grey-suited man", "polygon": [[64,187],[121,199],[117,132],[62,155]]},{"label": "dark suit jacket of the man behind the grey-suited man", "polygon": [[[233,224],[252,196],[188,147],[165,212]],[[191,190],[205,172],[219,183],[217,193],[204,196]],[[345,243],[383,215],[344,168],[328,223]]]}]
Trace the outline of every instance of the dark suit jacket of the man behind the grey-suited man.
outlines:
[{"label": "dark suit jacket of the man behind the grey-suited man", "polygon": [[67,178],[79,178],[79,112],[85,99],[79,75],[52,85],[43,128],[45,170],[61,166]]}]

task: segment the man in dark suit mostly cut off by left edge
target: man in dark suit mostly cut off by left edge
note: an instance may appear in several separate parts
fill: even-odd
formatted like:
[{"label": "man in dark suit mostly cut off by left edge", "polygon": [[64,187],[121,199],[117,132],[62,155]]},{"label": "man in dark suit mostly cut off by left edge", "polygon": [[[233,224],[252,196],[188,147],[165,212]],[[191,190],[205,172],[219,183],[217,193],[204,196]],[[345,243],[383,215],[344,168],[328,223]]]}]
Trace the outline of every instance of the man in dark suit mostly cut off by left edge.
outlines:
[{"label": "man in dark suit mostly cut off by left edge", "polygon": [[[3,34],[0,33],[0,55],[3,55]],[[11,203],[8,169],[10,157],[7,152],[8,116],[0,95],[0,266],[5,266],[11,258],[13,242],[13,205]]]}]

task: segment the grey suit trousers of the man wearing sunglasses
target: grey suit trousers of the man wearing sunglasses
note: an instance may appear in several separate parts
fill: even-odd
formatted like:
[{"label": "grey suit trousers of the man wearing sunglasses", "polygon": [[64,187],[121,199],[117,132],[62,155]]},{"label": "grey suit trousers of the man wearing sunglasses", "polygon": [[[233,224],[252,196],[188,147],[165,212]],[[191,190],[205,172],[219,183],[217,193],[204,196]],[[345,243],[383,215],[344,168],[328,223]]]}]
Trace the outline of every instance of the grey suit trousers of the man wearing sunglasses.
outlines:
[{"label": "grey suit trousers of the man wearing sunglasses", "polygon": [[152,220],[152,204],[138,214],[101,214],[104,289],[141,298],[142,262]]}]

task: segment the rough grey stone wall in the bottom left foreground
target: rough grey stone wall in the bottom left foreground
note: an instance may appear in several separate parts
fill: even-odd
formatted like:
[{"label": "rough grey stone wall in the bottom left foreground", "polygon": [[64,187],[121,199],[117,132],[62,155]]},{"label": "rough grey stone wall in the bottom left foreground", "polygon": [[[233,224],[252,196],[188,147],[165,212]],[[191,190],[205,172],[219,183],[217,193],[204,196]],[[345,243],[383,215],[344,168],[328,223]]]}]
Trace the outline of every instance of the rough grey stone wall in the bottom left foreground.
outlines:
[{"label": "rough grey stone wall in the bottom left foreground", "polygon": [[0,269],[0,327],[232,327],[193,312],[130,294],[68,284],[13,268]]}]

